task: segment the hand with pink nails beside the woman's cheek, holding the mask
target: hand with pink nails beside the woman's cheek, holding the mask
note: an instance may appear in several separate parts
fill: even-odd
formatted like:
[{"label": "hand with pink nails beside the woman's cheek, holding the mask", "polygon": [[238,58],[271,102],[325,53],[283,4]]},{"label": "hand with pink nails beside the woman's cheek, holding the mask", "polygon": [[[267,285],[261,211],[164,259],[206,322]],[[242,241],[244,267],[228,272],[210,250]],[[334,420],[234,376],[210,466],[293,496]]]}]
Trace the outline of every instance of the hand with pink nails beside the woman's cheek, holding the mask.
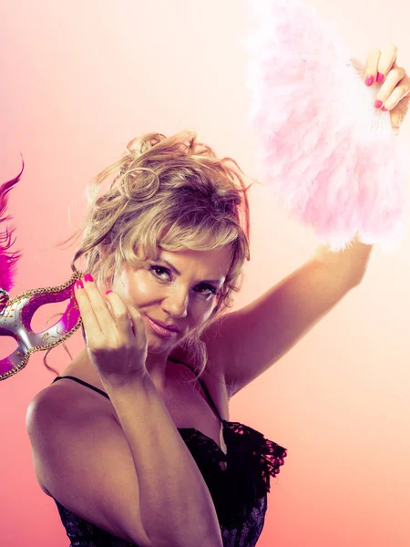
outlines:
[{"label": "hand with pink nails beside the woman's cheek, holding the mask", "polygon": [[[87,281],[89,279],[90,281]],[[75,285],[75,295],[87,339],[87,352],[103,383],[122,387],[148,374],[148,340],[142,316],[117,293],[104,298],[91,275]]]}]

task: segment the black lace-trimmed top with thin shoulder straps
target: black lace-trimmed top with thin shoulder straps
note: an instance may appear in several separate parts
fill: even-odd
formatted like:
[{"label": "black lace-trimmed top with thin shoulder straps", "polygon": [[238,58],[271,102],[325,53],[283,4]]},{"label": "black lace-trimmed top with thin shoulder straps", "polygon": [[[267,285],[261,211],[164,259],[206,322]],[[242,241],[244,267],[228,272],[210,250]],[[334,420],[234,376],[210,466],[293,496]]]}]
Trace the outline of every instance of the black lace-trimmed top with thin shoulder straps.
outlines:
[{"label": "black lace-trimmed top with thin shoulder straps", "polygon": [[[191,366],[182,365],[195,373]],[[54,382],[62,378],[75,380],[108,397],[104,391],[77,377],[56,377]],[[198,379],[210,407],[220,418],[207,387]],[[248,426],[222,418],[220,422],[226,453],[198,429],[179,428],[179,435],[210,490],[224,547],[253,547],[263,528],[271,477],[279,473],[286,449]],[[58,501],[56,506],[71,541],[70,547],[138,547],[67,511]]]}]

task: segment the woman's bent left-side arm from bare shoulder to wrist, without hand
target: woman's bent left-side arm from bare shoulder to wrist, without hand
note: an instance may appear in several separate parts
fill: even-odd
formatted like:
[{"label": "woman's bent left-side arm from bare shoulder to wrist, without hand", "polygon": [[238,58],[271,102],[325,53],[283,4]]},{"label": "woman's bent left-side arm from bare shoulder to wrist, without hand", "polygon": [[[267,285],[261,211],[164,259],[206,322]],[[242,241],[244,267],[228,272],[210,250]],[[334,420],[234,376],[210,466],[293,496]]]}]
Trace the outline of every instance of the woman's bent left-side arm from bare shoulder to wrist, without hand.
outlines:
[{"label": "woman's bent left-side arm from bare shoulder to wrist, without hand", "polygon": [[59,385],[31,401],[26,428],[42,489],[140,547],[221,546],[209,490],[152,380],[106,389],[117,415],[97,395],[73,398]]}]

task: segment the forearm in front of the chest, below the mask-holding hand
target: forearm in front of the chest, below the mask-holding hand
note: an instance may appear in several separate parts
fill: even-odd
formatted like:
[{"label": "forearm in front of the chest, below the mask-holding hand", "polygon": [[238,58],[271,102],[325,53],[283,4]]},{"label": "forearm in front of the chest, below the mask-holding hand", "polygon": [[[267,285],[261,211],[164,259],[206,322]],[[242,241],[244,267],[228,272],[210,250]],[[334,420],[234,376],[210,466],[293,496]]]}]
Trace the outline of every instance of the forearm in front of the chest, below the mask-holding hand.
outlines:
[{"label": "forearm in front of the chest, below the mask-holding hand", "polygon": [[151,378],[105,387],[134,459],[152,545],[222,545],[210,492]]}]

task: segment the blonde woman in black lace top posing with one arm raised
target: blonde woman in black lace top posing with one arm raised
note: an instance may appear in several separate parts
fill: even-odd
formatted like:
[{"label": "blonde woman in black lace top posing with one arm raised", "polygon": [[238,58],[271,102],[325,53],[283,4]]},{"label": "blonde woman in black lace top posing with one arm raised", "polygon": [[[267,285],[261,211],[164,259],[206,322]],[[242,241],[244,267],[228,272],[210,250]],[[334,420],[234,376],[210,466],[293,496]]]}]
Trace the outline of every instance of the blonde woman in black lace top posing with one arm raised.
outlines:
[{"label": "blonde woman in black lace top posing with one arm raised", "polygon": [[[370,56],[368,73],[394,62]],[[223,315],[249,259],[247,189],[197,145],[128,146],[80,228],[86,347],[27,411],[38,481],[78,547],[254,545],[286,450],[229,421],[229,401],[364,275],[370,245],[321,247]]]}]

